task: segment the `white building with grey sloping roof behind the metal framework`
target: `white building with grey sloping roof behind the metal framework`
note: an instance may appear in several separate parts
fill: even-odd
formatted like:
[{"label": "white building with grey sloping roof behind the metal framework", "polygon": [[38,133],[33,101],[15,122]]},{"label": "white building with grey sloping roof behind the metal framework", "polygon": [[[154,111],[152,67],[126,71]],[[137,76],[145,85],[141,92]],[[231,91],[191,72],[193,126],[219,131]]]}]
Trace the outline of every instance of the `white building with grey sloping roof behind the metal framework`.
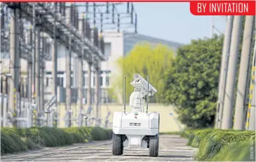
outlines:
[{"label": "white building with grey sloping roof behind the metal framework", "polygon": [[[163,45],[168,45],[171,47],[173,50],[177,50],[177,47],[180,47],[180,43],[175,43],[172,41],[168,40],[162,40],[159,38],[152,38],[149,36],[144,36],[141,34],[129,34],[129,33],[124,33],[124,32],[107,32],[102,34],[105,39],[105,54],[109,58],[107,61],[104,61],[101,63],[101,72],[100,72],[100,89],[101,89],[101,98],[102,98],[102,103],[112,102],[112,98],[110,98],[107,94],[107,89],[111,87],[111,78],[113,75],[118,75],[121,73],[120,69],[116,67],[115,61],[116,59],[119,59],[119,57],[123,57],[130,50],[133,49],[133,47],[140,42],[148,42],[152,44],[163,44]],[[51,50],[50,50],[51,51]],[[65,55],[66,55],[67,49],[59,45],[58,46],[58,82],[60,85],[60,102],[65,102],[65,87],[66,87],[66,61],[65,61]],[[4,59],[2,57],[2,59]],[[2,71],[8,71],[8,58],[4,59],[4,62],[2,64],[6,64],[4,68],[2,68]],[[84,103],[86,103],[86,96],[87,96],[87,71],[88,71],[88,64],[86,61],[83,63],[85,66],[83,67],[84,71],[84,80],[83,80],[83,88],[84,88]],[[21,62],[21,71],[27,71],[27,61],[22,60]],[[3,66],[3,65],[2,65]],[[52,71],[53,65],[51,61],[46,61],[46,75],[45,75],[45,99],[48,100],[51,97],[51,89],[52,89],[52,76],[51,76],[51,71]],[[76,73],[76,70],[78,69],[78,64],[77,64],[77,59],[76,57],[72,57],[72,78],[78,78],[78,73]],[[92,77],[91,77],[91,87],[92,87],[92,95],[94,95],[94,88],[95,88],[95,77],[94,73],[92,71]],[[72,80],[72,99],[74,99],[73,102],[76,102],[76,96],[77,96],[77,87],[78,87],[78,82],[76,79]],[[94,102],[94,98],[93,102]],[[122,96],[119,96],[119,101],[122,101]]]}]

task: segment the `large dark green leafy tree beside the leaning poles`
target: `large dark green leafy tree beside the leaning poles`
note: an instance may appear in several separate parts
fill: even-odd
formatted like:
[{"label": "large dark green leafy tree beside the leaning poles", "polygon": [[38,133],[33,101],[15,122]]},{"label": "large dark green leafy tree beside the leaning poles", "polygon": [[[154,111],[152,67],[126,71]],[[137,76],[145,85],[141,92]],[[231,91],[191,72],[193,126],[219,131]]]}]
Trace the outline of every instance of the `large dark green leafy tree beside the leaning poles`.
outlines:
[{"label": "large dark green leafy tree beside the leaning poles", "polygon": [[177,50],[166,73],[164,96],[188,127],[213,126],[223,37],[192,40]]}]

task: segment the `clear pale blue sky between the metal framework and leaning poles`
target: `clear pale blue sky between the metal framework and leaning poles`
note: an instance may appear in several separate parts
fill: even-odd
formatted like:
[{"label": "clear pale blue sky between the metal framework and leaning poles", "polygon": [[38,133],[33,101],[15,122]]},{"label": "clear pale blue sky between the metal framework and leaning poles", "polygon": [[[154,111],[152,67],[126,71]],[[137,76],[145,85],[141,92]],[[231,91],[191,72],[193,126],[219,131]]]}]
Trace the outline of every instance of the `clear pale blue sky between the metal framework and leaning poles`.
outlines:
[{"label": "clear pale blue sky between the metal framework and leaning poles", "polygon": [[134,6],[139,34],[188,44],[192,39],[209,38],[212,22],[217,28],[215,34],[224,33],[224,17],[192,15],[186,2],[134,3]]}]

